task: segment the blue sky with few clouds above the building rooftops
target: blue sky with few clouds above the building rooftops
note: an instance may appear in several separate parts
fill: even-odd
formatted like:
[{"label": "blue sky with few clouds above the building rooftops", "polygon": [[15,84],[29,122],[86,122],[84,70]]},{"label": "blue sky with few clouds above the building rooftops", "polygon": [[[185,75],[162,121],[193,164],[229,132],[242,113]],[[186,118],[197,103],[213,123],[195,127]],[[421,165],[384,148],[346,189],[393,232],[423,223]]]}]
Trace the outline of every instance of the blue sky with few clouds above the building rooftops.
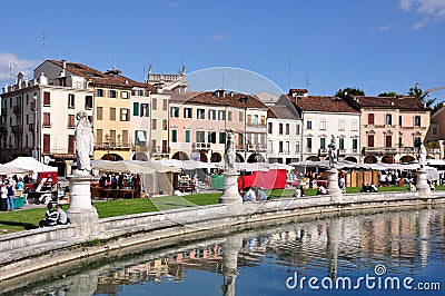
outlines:
[{"label": "blue sky with few clouds above the building rooftops", "polygon": [[[2,11],[1,86],[44,59],[116,67],[138,81],[149,65],[164,73],[185,65],[190,77],[233,67],[309,95],[445,86],[445,0],[23,0],[2,1]],[[445,100],[445,90],[431,98]]]}]

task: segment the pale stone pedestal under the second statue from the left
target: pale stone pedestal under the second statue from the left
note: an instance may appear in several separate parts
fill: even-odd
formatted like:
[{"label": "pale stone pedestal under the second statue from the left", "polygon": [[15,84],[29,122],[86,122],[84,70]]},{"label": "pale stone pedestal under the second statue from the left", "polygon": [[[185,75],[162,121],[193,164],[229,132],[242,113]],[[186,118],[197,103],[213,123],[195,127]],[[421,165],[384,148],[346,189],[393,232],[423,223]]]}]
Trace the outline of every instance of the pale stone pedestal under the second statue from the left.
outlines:
[{"label": "pale stone pedestal under the second statue from the left", "polygon": [[240,214],[243,210],[243,198],[238,193],[238,171],[229,170],[222,172],[224,194],[219,197],[219,204],[227,204],[230,214]]}]

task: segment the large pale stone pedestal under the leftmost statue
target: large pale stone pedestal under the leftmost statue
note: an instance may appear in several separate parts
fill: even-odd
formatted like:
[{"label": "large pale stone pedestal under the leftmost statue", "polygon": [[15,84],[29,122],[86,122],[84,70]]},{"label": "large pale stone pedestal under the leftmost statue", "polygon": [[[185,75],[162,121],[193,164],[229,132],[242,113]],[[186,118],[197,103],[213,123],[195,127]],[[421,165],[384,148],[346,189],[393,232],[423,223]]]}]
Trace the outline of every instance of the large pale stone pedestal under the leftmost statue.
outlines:
[{"label": "large pale stone pedestal under the leftmost statue", "polygon": [[67,176],[70,188],[70,204],[67,209],[71,224],[81,236],[96,237],[99,234],[99,216],[91,203],[91,180],[97,177],[75,174]]}]

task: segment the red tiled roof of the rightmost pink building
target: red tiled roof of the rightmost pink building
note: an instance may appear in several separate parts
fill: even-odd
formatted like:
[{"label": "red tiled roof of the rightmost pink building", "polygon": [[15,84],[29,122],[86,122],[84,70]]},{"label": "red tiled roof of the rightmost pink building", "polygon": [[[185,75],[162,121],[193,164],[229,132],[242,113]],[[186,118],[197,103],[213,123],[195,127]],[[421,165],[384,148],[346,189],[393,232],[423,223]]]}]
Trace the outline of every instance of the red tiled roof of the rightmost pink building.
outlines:
[{"label": "red tiled roof of the rightmost pink building", "polygon": [[385,108],[385,109],[403,109],[403,110],[428,110],[424,103],[414,97],[365,97],[354,96],[347,99],[358,108]]}]

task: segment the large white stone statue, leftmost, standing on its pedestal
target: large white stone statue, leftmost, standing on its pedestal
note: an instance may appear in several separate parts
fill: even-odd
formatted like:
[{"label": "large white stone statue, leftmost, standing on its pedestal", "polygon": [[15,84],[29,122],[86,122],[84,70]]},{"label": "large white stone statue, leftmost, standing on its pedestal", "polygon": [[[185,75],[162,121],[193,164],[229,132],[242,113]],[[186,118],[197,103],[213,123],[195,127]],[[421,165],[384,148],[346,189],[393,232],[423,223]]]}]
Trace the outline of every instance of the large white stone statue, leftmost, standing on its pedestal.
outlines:
[{"label": "large white stone statue, leftmost, standing on its pedestal", "polygon": [[77,112],[76,119],[79,120],[75,130],[77,169],[79,172],[90,174],[90,157],[95,147],[91,124],[85,110]]}]

